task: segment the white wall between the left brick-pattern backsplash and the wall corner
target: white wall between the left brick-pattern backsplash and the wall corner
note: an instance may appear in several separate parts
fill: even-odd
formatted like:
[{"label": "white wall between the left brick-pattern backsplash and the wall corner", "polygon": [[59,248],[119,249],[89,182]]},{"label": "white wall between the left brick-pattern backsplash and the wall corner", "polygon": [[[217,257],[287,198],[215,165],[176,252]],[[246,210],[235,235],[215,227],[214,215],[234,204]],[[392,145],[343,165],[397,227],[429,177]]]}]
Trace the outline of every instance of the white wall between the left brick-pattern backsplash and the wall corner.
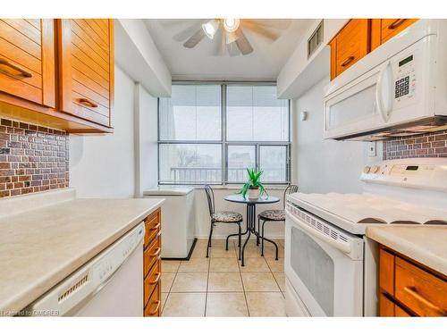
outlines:
[{"label": "white wall between the left brick-pattern backsplash and the wall corner", "polygon": [[77,197],[134,195],[134,83],[117,66],[114,73],[114,133],[70,136],[70,186]]}]

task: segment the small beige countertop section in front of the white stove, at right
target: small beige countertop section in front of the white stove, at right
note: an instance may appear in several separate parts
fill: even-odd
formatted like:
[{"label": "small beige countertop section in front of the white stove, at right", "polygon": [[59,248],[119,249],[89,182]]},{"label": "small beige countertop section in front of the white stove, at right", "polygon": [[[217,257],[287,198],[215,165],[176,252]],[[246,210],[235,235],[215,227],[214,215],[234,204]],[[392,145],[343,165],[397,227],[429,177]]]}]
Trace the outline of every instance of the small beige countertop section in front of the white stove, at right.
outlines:
[{"label": "small beige countertop section in front of the white stove, at right", "polygon": [[377,226],[367,237],[447,275],[447,226]]}]

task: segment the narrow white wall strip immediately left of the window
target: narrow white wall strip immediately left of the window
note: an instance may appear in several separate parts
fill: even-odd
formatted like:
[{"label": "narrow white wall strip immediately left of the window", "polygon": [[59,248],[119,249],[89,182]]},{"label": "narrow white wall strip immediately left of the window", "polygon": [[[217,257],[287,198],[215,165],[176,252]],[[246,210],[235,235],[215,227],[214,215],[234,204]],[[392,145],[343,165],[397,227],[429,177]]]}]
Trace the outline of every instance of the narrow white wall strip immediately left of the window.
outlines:
[{"label": "narrow white wall strip immediately left of the window", "polygon": [[135,197],[158,183],[157,99],[135,84]]}]

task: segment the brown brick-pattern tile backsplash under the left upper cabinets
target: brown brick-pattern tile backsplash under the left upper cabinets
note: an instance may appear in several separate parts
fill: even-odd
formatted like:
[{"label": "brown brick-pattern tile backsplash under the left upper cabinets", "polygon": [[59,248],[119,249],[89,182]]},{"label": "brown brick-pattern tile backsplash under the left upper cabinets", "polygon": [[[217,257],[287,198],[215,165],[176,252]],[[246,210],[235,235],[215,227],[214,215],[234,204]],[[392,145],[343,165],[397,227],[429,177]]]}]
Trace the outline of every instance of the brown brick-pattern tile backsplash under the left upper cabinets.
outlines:
[{"label": "brown brick-pattern tile backsplash under the left upper cabinets", "polygon": [[0,119],[0,197],[66,188],[68,167],[67,133]]}]

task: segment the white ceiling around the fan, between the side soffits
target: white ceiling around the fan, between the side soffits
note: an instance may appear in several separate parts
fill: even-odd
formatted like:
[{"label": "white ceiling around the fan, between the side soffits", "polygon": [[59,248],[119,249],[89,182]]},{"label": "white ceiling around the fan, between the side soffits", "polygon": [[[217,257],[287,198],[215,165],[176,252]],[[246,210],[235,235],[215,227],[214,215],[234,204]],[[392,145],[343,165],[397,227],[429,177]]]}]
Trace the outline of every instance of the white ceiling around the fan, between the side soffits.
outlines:
[{"label": "white ceiling around the fan, between the side soffits", "polygon": [[[173,80],[269,80],[276,78],[314,20],[291,20],[289,28],[274,42],[249,29],[244,34],[254,51],[247,55],[217,56],[218,38],[204,38],[198,46],[188,49],[184,41],[173,37],[182,29],[191,27],[197,20],[181,20],[171,24],[168,20],[145,20]],[[173,20],[171,20],[173,22]],[[192,35],[192,33],[191,33]]]}]

